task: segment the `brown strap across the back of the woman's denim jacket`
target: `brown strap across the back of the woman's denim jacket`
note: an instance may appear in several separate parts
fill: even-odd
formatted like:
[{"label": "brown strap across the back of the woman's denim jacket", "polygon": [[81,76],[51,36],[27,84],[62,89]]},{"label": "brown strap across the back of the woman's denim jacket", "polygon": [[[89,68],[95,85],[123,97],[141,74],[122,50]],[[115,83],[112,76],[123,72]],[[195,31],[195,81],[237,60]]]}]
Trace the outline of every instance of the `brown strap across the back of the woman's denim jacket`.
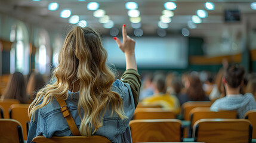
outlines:
[{"label": "brown strap across the back of the woman's denim jacket", "polygon": [[64,118],[67,120],[67,124],[69,125],[72,135],[81,136],[73,117],[69,113],[69,108],[67,108],[66,101],[60,100],[60,99],[57,99],[57,101],[58,101],[58,104],[60,104],[61,113],[63,114]]}]

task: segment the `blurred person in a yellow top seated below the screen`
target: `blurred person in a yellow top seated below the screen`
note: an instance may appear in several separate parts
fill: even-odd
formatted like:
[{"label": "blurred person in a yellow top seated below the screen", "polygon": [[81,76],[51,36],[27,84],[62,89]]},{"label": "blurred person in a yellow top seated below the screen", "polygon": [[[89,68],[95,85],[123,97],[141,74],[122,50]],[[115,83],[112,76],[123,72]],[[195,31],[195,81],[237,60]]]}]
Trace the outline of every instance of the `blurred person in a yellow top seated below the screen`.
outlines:
[{"label": "blurred person in a yellow top seated below the screen", "polygon": [[165,93],[165,76],[158,74],[153,79],[155,94],[152,97],[144,98],[144,105],[160,105],[162,108],[171,109],[174,113],[180,111],[180,103],[174,95]]}]

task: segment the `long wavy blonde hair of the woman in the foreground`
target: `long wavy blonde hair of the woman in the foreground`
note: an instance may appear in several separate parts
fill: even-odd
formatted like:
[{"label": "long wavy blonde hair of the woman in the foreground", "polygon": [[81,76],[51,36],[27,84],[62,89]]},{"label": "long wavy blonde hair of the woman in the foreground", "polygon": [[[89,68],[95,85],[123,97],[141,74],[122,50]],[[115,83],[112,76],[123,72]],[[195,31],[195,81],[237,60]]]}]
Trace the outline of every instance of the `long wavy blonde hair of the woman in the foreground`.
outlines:
[{"label": "long wavy blonde hair of the woman in the foreground", "polygon": [[67,91],[74,91],[78,86],[80,117],[81,108],[84,111],[79,128],[81,135],[91,136],[103,125],[103,116],[109,104],[112,114],[115,111],[121,119],[127,118],[121,97],[111,91],[115,76],[106,66],[106,59],[106,49],[95,30],[79,26],[71,30],[66,36],[58,57],[59,64],[54,70],[53,77],[57,80],[36,94],[36,99],[29,106],[29,117],[55,98],[67,100]]}]

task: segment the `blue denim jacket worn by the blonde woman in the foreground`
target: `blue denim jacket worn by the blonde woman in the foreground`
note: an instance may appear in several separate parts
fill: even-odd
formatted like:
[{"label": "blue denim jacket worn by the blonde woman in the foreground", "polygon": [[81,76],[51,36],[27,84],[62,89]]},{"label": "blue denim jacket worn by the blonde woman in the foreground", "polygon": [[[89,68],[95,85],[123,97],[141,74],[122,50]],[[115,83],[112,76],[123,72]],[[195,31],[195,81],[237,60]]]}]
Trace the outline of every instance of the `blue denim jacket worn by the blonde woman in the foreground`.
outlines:
[{"label": "blue denim jacket worn by the blonde woman in the foreground", "polygon": [[[115,112],[111,117],[112,110],[109,107],[109,110],[106,110],[103,117],[103,126],[94,135],[105,136],[111,142],[131,142],[129,121],[135,110],[131,87],[128,83],[116,80],[112,85],[112,91],[117,92],[121,96],[124,102],[124,112],[128,119],[122,120]],[[76,126],[79,128],[81,124],[78,114],[79,92],[74,93],[68,91],[68,93],[69,97],[66,100],[66,104],[75,120]],[[81,116],[83,116],[83,113],[81,113]],[[36,110],[34,121],[32,116],[27,142],[31,142],[35,136],[39,135],[43,135],[46,138],[51,138],[51,136],[72,136],[67,121],[60,111],[60,105],[57,100],[53,100],[39,110]]]}]

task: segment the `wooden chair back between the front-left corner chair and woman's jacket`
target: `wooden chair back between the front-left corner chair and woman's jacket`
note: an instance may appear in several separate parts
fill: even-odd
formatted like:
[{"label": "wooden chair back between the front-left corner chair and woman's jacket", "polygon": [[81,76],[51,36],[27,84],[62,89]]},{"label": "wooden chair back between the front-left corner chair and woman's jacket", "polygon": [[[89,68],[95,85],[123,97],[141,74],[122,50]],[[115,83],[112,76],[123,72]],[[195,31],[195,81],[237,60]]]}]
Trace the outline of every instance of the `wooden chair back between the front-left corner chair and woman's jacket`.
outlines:
[{"label": "wooden chair back between the front-left corner chair and woman's jacket", "polygon": [[29,132],[29,116],[27,114],[27,110],[29,108],[29,104],[13,104],[10,107],[10,119],[17,120],[21,123],[23,128],[23,138],[27,140],[27,133]]}]

